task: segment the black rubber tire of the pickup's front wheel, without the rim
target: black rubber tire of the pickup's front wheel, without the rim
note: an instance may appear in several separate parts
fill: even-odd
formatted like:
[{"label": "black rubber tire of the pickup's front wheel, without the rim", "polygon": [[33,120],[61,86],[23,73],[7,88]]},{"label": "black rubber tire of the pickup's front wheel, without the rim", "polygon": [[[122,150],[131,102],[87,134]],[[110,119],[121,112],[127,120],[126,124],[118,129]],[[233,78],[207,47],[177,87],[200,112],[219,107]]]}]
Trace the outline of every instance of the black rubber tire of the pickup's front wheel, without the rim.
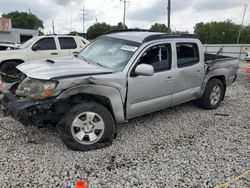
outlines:
[{"label": "black rubber tire of the pickup's front wheel, without the rim", "polygon": [[[80,143],[81,141],[77,141],[77,139],[74,138],[74,133],[72,132],[73,121],[75,120],[75,118],[85,112],[96,113],[102,118],[104,122],[104,131],[100,139],[93,144]],[[83,128],[79,129],[80,131],[83,130]],[[69,149],[80,151],[89,151],[110,146],[116,133],[115,123],[111,113],[107,110],[107,108],[96,102],[84,102],[73,106],[72,109],[63,118],[63,120],[58,123],[57,130],[63,142]]]}]

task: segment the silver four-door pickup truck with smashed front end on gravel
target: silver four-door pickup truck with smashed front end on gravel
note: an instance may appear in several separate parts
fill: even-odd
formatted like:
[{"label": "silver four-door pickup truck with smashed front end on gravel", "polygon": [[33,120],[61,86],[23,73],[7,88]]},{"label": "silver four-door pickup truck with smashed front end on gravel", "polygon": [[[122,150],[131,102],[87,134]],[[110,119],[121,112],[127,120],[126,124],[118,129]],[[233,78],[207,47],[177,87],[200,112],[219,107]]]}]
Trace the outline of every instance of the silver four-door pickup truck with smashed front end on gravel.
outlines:
[{"label": "silver four-door pickup truck with smashed front end on gravel", "polygon": [[194,100],[217,108],[239,62],[204,54],[192,35],[109,32],[77,56],[23,63],[1,106],[24,125],[56,125],[73,150],[112,143],[116,124]]}]

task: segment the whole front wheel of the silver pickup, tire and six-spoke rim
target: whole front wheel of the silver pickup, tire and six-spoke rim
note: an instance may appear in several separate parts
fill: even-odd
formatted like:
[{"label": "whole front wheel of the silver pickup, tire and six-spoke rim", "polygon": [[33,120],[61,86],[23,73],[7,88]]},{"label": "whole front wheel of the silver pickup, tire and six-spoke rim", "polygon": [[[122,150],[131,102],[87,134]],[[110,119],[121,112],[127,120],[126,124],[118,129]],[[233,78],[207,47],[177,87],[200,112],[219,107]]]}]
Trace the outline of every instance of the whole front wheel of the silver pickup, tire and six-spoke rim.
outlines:
[{"label": "whole front wheel of the silver pickup, tire and six-spoke rim", "polygon": [[115,124],[101,104],[85,102],[74,106],[58,125],[59,134],[72,150],[88,151],[112,144]]}]

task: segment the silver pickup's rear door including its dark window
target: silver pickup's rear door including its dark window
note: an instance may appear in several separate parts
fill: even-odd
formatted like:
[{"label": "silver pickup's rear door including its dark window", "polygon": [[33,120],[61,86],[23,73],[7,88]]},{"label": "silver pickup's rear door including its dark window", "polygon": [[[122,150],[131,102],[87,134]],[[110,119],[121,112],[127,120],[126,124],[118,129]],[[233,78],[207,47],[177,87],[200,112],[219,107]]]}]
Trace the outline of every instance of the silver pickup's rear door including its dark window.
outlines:
[{"label": "silver pickup's rear door including its dark window", "polygon": [[173,105],[195,99],[204,80],[204,57],[195,42],[179,42],[176,50],[176,79]]}]

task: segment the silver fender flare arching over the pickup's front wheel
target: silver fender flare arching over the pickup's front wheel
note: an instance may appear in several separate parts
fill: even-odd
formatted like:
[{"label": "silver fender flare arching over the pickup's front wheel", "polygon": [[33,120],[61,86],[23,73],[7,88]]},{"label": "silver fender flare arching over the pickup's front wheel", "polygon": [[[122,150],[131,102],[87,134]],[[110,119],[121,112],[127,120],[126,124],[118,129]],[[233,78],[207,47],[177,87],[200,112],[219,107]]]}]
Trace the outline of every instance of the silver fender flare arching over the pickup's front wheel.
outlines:
[{"label": "silver fender flare arching over the pickup's front wheel", "polygon": [[77,94],[92,94],[108,98],[111,103],[116,122],[125,122],[122,98],[118,89],[110,86],[84,84],[67,89],[66,91],[62,92],[57,97],[57,99],[67,99],[70,96]]}]

